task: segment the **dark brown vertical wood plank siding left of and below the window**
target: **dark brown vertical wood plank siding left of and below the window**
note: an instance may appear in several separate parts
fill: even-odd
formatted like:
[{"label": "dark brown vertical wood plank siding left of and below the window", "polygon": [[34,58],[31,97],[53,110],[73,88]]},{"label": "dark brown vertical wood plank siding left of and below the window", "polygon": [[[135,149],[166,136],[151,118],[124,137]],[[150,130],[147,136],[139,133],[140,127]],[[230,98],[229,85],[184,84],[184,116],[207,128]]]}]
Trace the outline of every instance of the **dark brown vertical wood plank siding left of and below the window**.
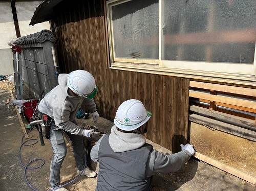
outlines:
[{"label": "dark brown vertical wood plank siding left of and below the window", "polygon": [[145,137],[180,151],[187,141],[189,80],[109,69],[103,0],[63,1],[54,12],[61,72],[85,69],[93,74],[100,116],[113,121],[123,101],[138,99],[153,114]]}]

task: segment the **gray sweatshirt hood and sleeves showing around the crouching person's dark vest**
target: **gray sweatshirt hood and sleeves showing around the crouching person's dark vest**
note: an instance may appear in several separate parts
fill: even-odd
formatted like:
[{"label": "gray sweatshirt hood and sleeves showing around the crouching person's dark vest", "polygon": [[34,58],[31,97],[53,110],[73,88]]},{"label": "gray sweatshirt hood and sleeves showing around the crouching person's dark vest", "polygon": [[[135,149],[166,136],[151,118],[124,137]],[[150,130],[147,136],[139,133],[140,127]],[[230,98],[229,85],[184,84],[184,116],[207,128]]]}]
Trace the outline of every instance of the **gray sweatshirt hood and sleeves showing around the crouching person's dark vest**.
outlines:
[{"label": "gray sweatshirt hood and sleeves showing around the crouching person's dark vest", "polygon": [[[103,136],[102,136],[103,137]],[[91,159],[98,162],[98,151],[102,137],[91,150]],[[122,133],[114,125],[111,128],[109,143],[114,152],[124,152],[142,147],[146,142],[143,135],[138,133]],[[172,155],[165,155],[153,150],[148,156],[146,166],[146,176],[151,177],[158,173],[170,173],[178,171],[190,158],[190,153],[186,150]]]}]

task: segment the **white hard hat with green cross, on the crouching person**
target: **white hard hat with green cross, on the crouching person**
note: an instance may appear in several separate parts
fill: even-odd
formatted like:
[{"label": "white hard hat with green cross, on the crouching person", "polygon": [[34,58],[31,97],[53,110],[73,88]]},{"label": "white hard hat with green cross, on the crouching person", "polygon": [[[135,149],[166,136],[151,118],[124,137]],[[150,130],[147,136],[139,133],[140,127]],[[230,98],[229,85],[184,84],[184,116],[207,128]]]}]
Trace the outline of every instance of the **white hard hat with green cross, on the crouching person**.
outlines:
[{"label": "white hard hat with green cross, on the crouching person", "polygon": [[119,129],[132,131],[145,124],[151,117],[139,100],[127,100],[117,109],[114,124]]}]

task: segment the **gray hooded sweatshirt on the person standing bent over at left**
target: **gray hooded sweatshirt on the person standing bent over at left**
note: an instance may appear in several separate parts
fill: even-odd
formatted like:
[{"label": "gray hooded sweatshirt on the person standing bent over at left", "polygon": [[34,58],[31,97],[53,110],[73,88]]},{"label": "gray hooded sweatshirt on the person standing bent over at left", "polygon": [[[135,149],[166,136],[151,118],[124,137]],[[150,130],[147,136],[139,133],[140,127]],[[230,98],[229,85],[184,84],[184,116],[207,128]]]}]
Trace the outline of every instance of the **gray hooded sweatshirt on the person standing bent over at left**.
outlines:
[{"label": "gray hooded sweatshirt on the person standing bent over at left", "polygon": [[45,95],[38,105],[38,110],[52,117],[59,129],[82,135],[83,129],[72,122],[83,101],[90,113],[97,110],[96,104],[93,99],[75,96],[67,85],[67,77],[68,74],[58,76],[59,85]]}]

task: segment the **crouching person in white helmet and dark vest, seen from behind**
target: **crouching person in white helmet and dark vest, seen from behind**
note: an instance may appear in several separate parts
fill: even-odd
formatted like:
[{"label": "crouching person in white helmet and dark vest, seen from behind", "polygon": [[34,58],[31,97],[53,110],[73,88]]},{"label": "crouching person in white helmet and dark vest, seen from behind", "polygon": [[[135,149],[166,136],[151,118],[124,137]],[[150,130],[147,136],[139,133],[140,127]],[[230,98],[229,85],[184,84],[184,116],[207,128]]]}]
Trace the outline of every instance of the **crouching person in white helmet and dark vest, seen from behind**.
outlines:
[{"label": "crouching person in white helmet and dark vest, seen from behind", "polygon": [[153,175],[178,171],[195,153],[189,144],[172,155],[154,150],[143,136],[150,117],[139,100],[119,106],[111,132],[91,150],[92,160],[99,162],[96,190],[152,190]]}]

